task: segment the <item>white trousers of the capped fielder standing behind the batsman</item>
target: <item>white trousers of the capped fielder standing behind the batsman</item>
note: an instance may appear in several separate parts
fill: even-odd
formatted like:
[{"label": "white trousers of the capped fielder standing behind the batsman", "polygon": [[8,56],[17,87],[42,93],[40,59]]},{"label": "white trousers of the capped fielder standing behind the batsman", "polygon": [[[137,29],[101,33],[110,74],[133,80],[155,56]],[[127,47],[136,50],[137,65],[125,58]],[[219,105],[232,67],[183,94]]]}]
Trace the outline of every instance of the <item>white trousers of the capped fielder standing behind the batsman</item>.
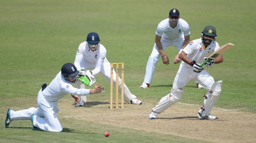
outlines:
[{"label": "white trousers of the capped fielder standing behind the batsman", "polygon": [[[173,45],[178,50],[180,50],[183,42],[184,42],[184,36],[177,40],[166,40],[164,37],[161,38],[161,44],[162,44],[163,50],[165,50],[170,45]],[[156,63],[158,62],[159,58],[160,58],[160,53],[159,53],[156,43],[155,43],[152,53],[148,58],[148,62],[147,62],[147,66],[146,66],[146,73],[144,76],[145,83],[151,83],[152,76],[153,76],[155,68],[156,68]]]}]

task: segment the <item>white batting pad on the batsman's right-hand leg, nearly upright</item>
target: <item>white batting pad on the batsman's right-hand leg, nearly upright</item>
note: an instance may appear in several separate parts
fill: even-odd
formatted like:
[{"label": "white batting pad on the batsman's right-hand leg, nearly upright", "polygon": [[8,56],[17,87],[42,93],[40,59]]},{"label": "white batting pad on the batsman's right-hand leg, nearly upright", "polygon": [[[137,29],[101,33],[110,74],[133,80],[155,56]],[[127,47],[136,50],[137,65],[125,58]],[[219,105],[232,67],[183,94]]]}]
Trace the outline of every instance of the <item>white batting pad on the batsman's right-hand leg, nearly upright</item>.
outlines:
[{"label": "white batting pad on the batsman's right-hand leg, nearly upright", "polygon": [[[208,91],[207,95],[204,96],[205,100],[203,103],[203,106],[201,107],[202,110],[199,110],[199,114],[202,117],[207,116],[211,110],[215,102],[217,101],[220,92],[221,92],[221,84],[222,81],[216,81],[215,83],[212,84],[211,90]],[[200,113],[200,111],[202,111]]]}]

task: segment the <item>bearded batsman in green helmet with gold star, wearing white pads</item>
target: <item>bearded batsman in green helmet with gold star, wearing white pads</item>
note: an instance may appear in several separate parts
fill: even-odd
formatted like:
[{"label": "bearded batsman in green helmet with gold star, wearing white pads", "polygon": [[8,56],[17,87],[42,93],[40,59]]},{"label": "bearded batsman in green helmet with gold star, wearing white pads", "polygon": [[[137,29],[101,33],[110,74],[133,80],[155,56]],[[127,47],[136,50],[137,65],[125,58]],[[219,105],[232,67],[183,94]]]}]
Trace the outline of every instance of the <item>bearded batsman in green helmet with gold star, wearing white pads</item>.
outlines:
[{"label": "bearded batsman in green helmet with gold star, wearing white pads", "polygon": [[[149,119],[156,119],[158,113],[177,103],[184,92],[182,90],[183,87],[192,79],[195,79],[195,81],[202,84],[208,90],[207,95],[204,95],[204,103],[197,117],[208,120],[216,119],[216,116],[210,115],[210,111],[220,95],[222,81],[214,82],[213,77],[199,65],[204,62],[204,57],[208,57],[209,53],[220,48],[219,44],[215,41],[216,36],[216,29],[211,25],[206,26],[201,34],[201,38],[193,40],[183,49],[179,55],[182,62],[174,79],[171,93],[162,97],[158,105],[152,108]],[[205,62],[205,66],[211,68],[214,63],[218,64],[221,62],[223,62],[222,54],[215,60]]]}]

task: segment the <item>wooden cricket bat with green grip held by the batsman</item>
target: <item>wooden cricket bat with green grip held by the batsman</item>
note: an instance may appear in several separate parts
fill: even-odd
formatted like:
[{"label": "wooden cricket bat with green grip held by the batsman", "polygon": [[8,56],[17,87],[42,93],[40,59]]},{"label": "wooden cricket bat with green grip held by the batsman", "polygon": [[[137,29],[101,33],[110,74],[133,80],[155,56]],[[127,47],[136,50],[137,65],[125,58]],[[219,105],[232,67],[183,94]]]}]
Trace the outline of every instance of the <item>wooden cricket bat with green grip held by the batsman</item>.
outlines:
[{"label": "wooden cricket bat with green grip held by the batsman", "polygon": [[232,43],[227,43],[225,45],[222,45],[217,51],[213,52],[208,58],[207,60],[205,60],[202,64],[200,64],[200,66],[203,66],[205,64],[206,61],[210,61],[213,60],[215,58],[217,58],[220,54],[228,51],[228,49],[232,48],[234,46],[234,44]]}]

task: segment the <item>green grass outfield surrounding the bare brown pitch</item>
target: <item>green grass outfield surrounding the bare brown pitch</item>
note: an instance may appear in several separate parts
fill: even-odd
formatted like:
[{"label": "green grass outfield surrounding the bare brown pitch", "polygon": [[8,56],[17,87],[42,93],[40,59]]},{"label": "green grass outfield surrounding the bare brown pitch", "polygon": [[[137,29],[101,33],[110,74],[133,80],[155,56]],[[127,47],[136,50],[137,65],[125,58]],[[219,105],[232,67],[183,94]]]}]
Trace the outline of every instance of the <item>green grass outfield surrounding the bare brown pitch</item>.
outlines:
[{"label": "green grass outfield surrounding the bare brown pitch", "polygon": [[[74,116],[69,112],[87,112],[87,108],[73,107],[73,99],[69,95],[59,103],[60,107],[67,107],[63,107],[58,114],[63,125],[61,133],[32,131],[30,121],[15,121],[9,128],[5,128],[3,122],[9,107],[15,111],[37,107],[37,93],[41,85],[49,84],[64,63],[74,62],[79,44],[85,41],[90,32],[100,35],[110,62],[125,63],[125,83],[131,93],[143,101],[139,107],[145,109],[142,114],[148,118],[146,114],[151,108],[170,92],[179,68],[179,64],[164,65],[160,59],[152,79],[152,88],[139,88],[154,45],[156,27],[168,17],[172,8],[177,8],[181,18],[188,22],[190,40],[200,38],[206,25],[213,25],[218,35],[216,41],[220,45],[235,45],[223,54],[223,63],[206,69],[215,81],[223,81],[222,93],[215,107],[251,114],[255,118],[255,6],[253,0],[0,1],[0,142],[224,142],[214,138],[176,136],[173,134],[176,129],[172,127],[170,133],[161,133],[154,131],[157,126],[149,131],[116,125],[114,122],[110,125],[87,121],[87,116],[83,119],[79,116],[67,118],[66,114]],[[166,50],[170,61],[177,53],[178,50],[172,46]],[[96,79],[106,87],[106,92],[89,96],[88,102],[91,99],[104,103],[99,108],[114,114],[115,111],[107,110],[109,84],[102,75],[97,75]],[[203,94],[207,93],[205,89],[195,88],[194,81],[184,90],[180,103],[192,105],[201,105]],[[97,106],[91,104],[98,107],[97,102]],[[137,113],[133,107],[138,106],[125,106]],[[215,113],[218,114],[217,111]],[[164,118],[164,114],[161,117]],[[251,129],[250,126],[248,128]],[[108,138],[103,136],[105,131],[110,132]],[[241,136],[240,139],[245,137]]]}]

